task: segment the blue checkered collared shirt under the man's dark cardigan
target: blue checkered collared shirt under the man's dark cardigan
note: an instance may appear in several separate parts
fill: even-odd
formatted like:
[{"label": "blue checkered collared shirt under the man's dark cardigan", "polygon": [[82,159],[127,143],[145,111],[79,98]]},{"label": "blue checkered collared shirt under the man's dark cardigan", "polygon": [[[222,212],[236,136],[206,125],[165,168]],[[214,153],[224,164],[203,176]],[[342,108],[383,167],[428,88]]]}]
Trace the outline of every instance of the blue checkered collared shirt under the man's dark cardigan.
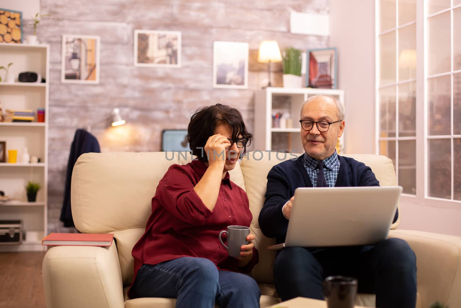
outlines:
[{"label": "blue checkered collared shirt under the man's dark cardigan", "polygon": [[[304,165],[304,168],[306,168],[307,174],[311,179],[313,187],[317,187],[317,175],[319,174],[319,169],[315,168],[317,168],[318,163],[319,160],[312,158],[304,153],[302,164]],[[336,150],[330,157],[325,158],[323,163],[325,163],[323,174],[325,176],[326,186],[334,187],[338,177],[340,164]]]}]

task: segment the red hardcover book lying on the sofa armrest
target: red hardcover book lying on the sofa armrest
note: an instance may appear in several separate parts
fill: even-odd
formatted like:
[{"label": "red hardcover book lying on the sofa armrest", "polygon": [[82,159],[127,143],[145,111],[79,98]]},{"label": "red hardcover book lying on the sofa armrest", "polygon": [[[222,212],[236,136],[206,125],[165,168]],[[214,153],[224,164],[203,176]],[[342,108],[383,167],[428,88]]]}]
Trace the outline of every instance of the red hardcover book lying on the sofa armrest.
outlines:
[{"label": "red hardcover book lying on the sofa armrest", "polygon": [[51,233],[41,240],[51,246],[111,246],[113,234],[99,233]]}]

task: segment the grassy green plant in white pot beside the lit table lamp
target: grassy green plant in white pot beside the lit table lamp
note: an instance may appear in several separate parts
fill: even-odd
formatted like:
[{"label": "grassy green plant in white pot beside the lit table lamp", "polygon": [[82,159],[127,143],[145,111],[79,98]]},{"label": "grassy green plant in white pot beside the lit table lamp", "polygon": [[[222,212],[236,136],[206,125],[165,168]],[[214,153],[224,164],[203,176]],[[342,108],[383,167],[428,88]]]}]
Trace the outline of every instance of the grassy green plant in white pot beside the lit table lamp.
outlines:
[{"label": "grassy green plant in white pot beside the lit table lamp", "polygon": [[286,48],[282,55],[284,63],[284,88],[301,88],[301,50],[293,47]]}]

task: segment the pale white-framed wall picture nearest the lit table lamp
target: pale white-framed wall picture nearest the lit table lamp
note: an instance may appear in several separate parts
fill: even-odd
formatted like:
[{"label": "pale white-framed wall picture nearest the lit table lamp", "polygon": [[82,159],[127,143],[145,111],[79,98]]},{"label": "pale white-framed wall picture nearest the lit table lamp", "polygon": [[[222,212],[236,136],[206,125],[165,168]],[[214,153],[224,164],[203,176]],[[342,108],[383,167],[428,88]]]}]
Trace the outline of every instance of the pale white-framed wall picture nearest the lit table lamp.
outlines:
[{"label": "pale white-framed wall picture nearest the lit table lamp", "polygon": [[213,87],[248,89],[248,43],[213,42]]}]

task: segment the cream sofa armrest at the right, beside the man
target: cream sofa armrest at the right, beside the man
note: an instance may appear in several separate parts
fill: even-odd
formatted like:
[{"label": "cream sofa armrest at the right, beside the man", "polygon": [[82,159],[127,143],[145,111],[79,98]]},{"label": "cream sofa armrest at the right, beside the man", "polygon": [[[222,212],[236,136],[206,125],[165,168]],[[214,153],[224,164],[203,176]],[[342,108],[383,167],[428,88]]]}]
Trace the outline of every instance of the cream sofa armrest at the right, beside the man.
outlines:
[{"label": "cream sofa armrest at the right, beside the man", "polygon": [[391,230],[416,254],[418,292],[424,308],[440,301],[461,307],[461,237],[412,230]]}]

